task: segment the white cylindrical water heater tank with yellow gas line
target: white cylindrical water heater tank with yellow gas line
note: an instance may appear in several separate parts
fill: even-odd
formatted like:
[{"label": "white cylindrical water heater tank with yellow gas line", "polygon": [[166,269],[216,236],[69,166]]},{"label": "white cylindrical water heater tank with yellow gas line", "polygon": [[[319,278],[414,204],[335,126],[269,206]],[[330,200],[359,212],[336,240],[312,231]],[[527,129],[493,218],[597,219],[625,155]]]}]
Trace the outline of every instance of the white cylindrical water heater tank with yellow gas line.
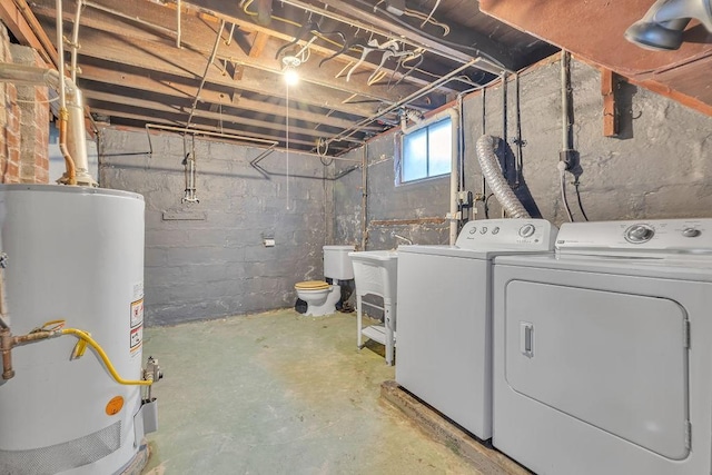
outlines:
[{"label": "white cylindrical water heater tank with yellow gas line", "polygon": [[[83,187],[0,185],[0,251],[13,335],[65,319],[119,375],[141,379],[144,198]],[[116,474],[144,439],[139,386],[113,380],[77,338],[17,346],[0,379],[0,473]],[[136,420],[135,420],[136,418]]]}]

